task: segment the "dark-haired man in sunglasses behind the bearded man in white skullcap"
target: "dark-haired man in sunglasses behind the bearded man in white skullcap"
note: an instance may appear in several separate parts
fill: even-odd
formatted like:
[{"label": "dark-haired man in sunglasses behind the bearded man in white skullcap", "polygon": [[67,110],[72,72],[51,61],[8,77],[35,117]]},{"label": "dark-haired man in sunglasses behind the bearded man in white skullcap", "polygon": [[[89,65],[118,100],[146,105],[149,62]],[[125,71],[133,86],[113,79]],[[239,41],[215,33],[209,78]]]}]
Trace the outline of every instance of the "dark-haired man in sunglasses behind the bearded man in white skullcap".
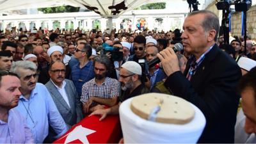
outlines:
[{"label": "dark-haired man in sunglasses behind the bearded man in white skullcap", "polygon": [[128,61],[135,61],[138,63],[140,59],[146,60],[146,53],[145,53],[145,45],[146,45],[146,38],[145,36],[139,35],[134,38],[134,45],[133,49],[135,54],[132,54]]}]

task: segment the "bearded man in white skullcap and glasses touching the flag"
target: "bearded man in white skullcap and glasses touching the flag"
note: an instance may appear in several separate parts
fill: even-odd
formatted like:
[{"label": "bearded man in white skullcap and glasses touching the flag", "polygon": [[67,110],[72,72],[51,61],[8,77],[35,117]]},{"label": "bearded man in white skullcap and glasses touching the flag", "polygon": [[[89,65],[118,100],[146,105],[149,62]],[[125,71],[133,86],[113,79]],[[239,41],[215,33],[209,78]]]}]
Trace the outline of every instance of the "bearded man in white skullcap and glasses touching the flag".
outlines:
[{"label": "bearded man in white skullcap and glasses touching the flag", "polygon": [[141,84],[141,74],[142,70],[140,64],[135,61],[125,62],[120,69],[119,76],[119,82],[122,84],[122,95],[119,99],[120,102],[108,109],[97,109],[96,111],[93,111],[91,115],[100,115],[100,120],[106,118],[107,115],[116,115],[118,114],[121,102],[131,97],[148,93],[149,90]]}]

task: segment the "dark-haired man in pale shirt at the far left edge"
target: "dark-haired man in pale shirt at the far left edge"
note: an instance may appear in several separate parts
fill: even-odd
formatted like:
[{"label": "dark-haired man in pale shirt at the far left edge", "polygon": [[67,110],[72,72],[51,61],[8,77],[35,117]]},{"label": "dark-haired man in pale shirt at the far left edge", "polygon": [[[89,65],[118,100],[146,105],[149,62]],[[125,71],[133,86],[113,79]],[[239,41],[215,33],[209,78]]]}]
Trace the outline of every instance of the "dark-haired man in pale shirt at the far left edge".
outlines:
[{"label": "dark-haired man in pale shirt at the far left edge", "polygon": [[0,143],[35,143],[25,118],[15,111],[20,97],[16,74],[0,70]]}]

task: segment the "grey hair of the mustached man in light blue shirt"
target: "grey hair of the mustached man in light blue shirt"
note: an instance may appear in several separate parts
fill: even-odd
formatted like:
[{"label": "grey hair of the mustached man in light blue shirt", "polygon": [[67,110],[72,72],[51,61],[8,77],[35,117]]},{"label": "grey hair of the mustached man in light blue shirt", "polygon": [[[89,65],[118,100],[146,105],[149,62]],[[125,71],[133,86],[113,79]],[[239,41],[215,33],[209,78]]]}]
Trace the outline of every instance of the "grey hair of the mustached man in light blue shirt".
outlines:
[{"label": "grey hair of the mustached man in light blue shirt", "polygon": [[36,64],[32,61],[13,61],[10,72],[17,74],[20,77],[19,68],[23,68],[25,70],[33,70],[36,71]]}]

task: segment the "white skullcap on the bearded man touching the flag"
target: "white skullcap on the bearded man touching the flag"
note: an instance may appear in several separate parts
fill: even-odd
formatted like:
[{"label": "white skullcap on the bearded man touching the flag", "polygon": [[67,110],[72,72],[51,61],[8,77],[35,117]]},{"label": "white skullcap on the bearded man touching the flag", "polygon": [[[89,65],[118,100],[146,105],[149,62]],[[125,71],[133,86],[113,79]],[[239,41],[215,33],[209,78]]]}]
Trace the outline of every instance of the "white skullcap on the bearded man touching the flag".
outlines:
[{"label": "white skullcap on the bearded man touching the flag", "polygon": [[138,74],[138,75],[142,74],[140,64],[136,63],[135,61],[126,61],[122,65],[122,68],[125,68],[125,69],[129,70],[130,72],[132,72],[134,74]]}]

